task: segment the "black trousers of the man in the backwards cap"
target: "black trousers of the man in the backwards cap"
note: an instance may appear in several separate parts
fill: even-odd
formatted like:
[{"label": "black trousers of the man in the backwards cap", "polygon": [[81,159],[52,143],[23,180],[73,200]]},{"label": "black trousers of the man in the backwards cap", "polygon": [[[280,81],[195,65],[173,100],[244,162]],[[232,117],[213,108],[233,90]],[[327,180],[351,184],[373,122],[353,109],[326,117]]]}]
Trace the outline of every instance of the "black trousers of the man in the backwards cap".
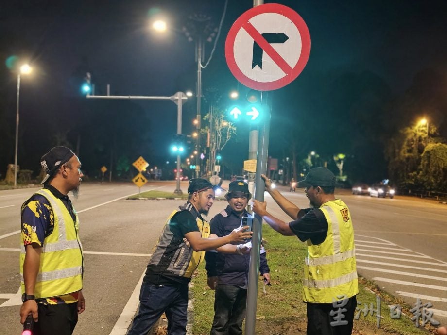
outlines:
[{"label": "black trousers of the man in the backwards cap", "polygon": [[39,321],[34,323],[34,335],[70,335],[78,322],[78,304],[37,305]]}]

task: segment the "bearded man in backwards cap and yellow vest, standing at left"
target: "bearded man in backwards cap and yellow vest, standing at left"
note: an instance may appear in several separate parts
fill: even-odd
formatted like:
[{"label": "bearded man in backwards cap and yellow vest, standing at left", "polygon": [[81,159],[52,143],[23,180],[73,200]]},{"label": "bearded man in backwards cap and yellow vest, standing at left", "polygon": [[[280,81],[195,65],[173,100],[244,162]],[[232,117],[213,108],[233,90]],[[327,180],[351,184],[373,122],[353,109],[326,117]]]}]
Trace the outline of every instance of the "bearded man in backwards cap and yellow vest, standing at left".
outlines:
[{"label": "bearded man in backwards cap and yellow vest, standing at left", "polygon": [[31,314],[33,334],[69,335],[85,309],[79,219],[68,197],[77,197],[81,162],[69,148],[54,147],[40,164],[44,186],[21,208],[20,322]]}]

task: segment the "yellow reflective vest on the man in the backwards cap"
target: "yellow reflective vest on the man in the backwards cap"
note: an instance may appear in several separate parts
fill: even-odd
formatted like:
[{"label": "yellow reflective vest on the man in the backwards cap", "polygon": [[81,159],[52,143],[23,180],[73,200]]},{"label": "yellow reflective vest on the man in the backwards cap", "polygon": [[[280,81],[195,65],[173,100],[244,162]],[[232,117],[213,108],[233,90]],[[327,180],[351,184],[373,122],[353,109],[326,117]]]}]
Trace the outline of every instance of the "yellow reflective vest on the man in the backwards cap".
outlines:
[{"label": "yellow reflective vest on the man in the backwards cap", "polygon": [[[44,196],[50,202],[54,215],[54,227],[52,233],[45,237],[42,245],[34,295],[36,299],[41,299],[77,292],[82,289],[84,260],[78,236],[78,215],[75,211],[76,221],[73,222],[64,203],[56,198],[50,190],[41,189],[36,194]],[[23,235],[20,234],[20,236],[20,281],[22,293],[24,293],[25,247]]]}]

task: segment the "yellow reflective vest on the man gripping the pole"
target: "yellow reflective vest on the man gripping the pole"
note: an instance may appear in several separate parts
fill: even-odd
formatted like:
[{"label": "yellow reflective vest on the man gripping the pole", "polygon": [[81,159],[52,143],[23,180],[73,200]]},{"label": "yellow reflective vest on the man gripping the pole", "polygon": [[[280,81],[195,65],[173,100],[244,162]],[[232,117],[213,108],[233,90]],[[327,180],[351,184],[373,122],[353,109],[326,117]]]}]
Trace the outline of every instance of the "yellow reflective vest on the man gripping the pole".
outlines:
[{"label": "yellow reflective vest on the man gripping the pole", "polygon": [[305,260],[303,299],[333,303],[359,293],[351,215],[341,200],[328,201],[319,208],[327,220],[323,243],[308,243]]}]

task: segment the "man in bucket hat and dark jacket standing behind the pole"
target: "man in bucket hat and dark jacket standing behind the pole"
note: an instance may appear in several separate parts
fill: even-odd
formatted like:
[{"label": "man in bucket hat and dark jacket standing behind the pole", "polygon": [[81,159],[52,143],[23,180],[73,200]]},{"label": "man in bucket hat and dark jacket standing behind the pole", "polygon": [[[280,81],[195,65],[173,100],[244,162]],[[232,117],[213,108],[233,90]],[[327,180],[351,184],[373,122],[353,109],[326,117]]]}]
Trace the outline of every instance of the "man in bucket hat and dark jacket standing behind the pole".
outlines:
[{"label": "man in bucket hat and dark jacket standing behind the pole", "polygon": [[[231,182],[225,198],[228,206],[210,221],[211,236],[212,234],[217,237],[225,236],[241,226],[244,217],[251,217],[245,209],[251,198],[247,183],[242,180]],[[268,285],[270,269],[263,247],[260,253],[260,274],[264,277],[264,283]],[[205,261],[208,286],[216,290],[211,335],[242,334],[250,255],[206,251]]]}]

